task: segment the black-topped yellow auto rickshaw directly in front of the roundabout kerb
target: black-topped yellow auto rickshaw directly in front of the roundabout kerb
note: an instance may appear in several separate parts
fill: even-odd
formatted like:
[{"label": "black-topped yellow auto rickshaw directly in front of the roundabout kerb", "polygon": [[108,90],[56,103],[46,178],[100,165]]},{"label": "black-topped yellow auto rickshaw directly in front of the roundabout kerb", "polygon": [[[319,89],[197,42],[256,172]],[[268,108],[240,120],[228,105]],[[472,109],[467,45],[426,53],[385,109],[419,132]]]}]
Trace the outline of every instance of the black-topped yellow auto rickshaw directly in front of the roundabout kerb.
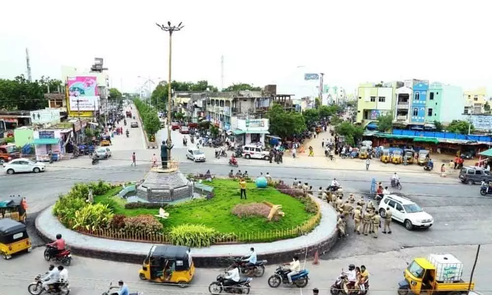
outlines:
[{"label": "black-topped yellow auto rickshaw directly in front of the roundabout kerb", "polygon": [[189,285],[195,274],[190,248],[173,245],[153,245],[138,271],[141,280],[154,283]]}]

